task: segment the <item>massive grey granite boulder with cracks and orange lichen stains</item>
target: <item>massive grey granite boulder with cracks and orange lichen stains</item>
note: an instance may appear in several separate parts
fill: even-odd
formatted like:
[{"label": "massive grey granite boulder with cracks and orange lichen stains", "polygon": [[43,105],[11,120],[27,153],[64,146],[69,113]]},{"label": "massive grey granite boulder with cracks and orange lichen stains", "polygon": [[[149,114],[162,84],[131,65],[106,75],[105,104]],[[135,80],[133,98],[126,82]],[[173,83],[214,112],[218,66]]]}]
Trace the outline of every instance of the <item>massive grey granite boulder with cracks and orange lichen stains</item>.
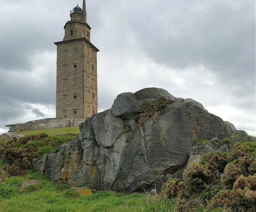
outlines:
[{"label": "massive grey granite boulder with cracks and orange lichen stains", "polygon": [[70,186],[118,192],[159,189],[181,178],[196,139],[220,140],[236,130],[199,102],[160,88],[118,95],[81,128],[75,140],[34,160],[34,169]]}]

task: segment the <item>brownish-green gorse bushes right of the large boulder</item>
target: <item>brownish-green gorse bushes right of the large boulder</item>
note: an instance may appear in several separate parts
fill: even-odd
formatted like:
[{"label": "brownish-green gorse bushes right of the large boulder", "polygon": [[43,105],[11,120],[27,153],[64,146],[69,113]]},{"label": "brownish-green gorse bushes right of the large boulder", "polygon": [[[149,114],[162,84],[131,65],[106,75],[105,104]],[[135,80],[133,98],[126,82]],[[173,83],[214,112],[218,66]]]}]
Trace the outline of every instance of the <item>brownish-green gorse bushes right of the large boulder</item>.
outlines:
[{"label": "brownish-green gorse bushes right of the large boulder", "polygon": [[183,172],[183,180],[170,179],[163,188],[165,198],[177,197],[177,211],[187,210],[191,198],[190,211],[256,211],[256,142],[205,154]]}]

